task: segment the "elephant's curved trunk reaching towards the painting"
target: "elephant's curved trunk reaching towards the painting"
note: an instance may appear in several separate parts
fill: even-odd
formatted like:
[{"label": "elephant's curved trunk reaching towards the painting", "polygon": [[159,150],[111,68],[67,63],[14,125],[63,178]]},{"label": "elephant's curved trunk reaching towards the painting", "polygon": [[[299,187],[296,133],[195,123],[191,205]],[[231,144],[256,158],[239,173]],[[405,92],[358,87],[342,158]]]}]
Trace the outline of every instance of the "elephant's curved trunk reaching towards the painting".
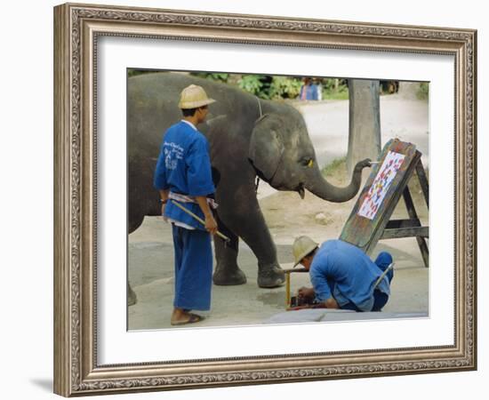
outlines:
[{"label": "elephant's curved trunk reaching towards the painting", "polygon": [[362,182],[362,170],[370,166],[370,160],[365,159],[355,165],[353,175],[349,185],[344,188],[338,188],[329,183],[319,169],[313,170],[311,179],[304,185],[312,194],[333,203],[346,202],[357,195]]}]

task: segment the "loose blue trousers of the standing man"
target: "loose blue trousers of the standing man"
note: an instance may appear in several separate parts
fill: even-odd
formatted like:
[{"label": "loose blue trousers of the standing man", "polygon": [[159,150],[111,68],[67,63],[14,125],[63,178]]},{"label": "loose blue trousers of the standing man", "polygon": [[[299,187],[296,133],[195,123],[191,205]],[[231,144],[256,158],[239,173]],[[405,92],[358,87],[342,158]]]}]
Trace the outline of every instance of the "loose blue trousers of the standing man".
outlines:
[{"label": "loose blue trousers of the standing man", "polygon": [[208,310],[212,288],[211,235],[204,230],[173,224],[172,234],[175,251],[173,307]]}]

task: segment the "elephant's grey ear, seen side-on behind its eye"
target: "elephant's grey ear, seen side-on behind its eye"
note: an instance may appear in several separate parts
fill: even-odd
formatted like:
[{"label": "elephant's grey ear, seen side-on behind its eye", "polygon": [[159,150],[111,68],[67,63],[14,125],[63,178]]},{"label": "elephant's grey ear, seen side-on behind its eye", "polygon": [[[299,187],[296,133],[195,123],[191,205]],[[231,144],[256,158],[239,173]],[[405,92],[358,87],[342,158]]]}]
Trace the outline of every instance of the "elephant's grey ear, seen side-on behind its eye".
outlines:
[{"label": "elephant's grey ear, seen side-on behind its eye", "polygon": [[254,124],[248,157],[264,180],[271,180],[277,172],[284,154],[284,143],[280,135],[280,120],[265,114]]}]

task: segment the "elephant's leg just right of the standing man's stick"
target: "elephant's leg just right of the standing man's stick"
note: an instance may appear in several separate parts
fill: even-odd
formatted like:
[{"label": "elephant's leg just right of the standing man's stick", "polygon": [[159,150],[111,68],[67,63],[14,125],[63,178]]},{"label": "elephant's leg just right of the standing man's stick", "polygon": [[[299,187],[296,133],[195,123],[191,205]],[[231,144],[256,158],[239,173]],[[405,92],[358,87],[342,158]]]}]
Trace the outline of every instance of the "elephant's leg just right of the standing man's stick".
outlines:
[{"label": "elephant's leg just right of the standing man's stick", "polygon": [[225,243],[220,237],[214,236],[216,268],[212,281],[219,285],[245,284],[246,276],[237,266],[238,237],[217,216],[220,232],[228,236],[230,241]]}]

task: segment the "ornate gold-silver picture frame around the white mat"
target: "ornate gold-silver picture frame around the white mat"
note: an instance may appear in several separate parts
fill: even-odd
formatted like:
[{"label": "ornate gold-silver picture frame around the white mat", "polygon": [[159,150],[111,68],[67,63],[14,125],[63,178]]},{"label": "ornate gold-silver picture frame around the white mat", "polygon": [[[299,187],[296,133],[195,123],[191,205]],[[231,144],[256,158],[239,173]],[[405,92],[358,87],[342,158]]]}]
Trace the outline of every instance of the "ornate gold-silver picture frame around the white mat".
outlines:
[{"label": "ornate gold-silver picture frame around the white mat", "polygon": [[[96,99],[99,36],[179,38],[455,60],[453,346],[99,365],[96,351]],[[477,32],[86,4],[54,9],[54,391],[62,396],[373,377],[477,367]]]}]

